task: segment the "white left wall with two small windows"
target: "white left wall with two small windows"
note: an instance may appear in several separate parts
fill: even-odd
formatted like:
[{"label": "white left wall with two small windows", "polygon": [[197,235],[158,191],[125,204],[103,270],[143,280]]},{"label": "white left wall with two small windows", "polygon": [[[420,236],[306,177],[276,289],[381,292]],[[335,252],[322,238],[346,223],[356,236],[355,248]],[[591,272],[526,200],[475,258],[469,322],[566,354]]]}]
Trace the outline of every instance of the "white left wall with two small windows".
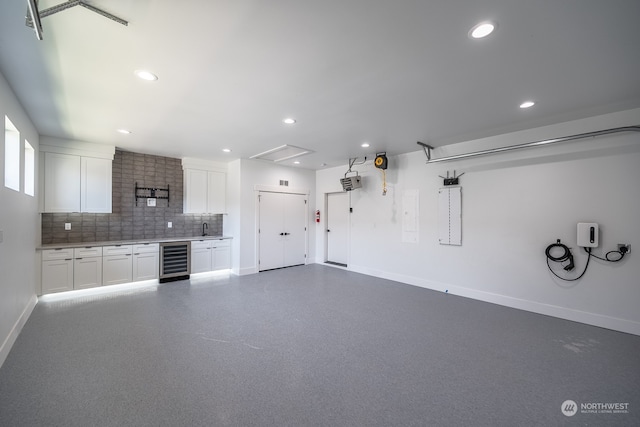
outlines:
[{"label": "white left wall with two small windows", "polygon": [[[4,117],[20,131],[20,192],[4,186]],[[35,306],[39,268],[35,248],[40,242],[38,192],[24,194],[24,140],[34,148],[38,164],[38,133],[0,74],[0,366],[6,359],[18,333]],[[38,168],[35,168],[36,174]],[[35,182],[38,182],[36,177]]]}]

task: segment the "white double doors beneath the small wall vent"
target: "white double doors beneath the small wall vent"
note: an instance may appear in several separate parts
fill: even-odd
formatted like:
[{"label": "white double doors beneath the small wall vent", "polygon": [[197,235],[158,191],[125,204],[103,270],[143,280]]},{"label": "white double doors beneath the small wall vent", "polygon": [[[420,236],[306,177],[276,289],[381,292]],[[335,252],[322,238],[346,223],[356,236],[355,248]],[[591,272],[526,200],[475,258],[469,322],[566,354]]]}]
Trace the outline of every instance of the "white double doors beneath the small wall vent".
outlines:
[{"label": "white double doors beneath the small wall vent", "polygon": [[306,260],[306,196],[260,192],[259,270],[304,264]]}]

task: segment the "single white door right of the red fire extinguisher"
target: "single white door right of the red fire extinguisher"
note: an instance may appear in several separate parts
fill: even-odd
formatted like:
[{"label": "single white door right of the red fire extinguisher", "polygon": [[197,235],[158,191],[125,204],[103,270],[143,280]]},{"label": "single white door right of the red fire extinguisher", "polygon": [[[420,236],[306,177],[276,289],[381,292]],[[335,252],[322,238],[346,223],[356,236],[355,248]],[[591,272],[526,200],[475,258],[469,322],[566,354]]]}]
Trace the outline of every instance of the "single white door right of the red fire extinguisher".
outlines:
[{"label": "single white door right of the red fire extinguisher", "polygon": [[349,247],[349,196],[327,194],[327,262],[347,265]]}]

